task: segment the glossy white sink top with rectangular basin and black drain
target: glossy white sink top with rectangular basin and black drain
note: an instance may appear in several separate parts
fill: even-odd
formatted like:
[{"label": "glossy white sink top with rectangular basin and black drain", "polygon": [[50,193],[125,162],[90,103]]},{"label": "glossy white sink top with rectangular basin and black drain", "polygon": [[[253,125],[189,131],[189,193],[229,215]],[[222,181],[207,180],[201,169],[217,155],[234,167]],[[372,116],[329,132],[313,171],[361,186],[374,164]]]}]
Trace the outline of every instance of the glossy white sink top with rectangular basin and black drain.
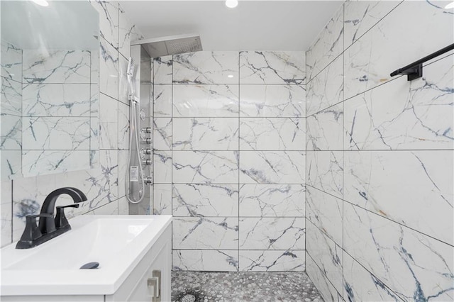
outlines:
[{"label": "glossy white sink top with rectangular basin and black drain", "polygon": [[[1,295],[110,294],[172,216],[77,216],[72,230],[28,250],[1,249]],[[98,269],[79,269],[99,262]]]}]

